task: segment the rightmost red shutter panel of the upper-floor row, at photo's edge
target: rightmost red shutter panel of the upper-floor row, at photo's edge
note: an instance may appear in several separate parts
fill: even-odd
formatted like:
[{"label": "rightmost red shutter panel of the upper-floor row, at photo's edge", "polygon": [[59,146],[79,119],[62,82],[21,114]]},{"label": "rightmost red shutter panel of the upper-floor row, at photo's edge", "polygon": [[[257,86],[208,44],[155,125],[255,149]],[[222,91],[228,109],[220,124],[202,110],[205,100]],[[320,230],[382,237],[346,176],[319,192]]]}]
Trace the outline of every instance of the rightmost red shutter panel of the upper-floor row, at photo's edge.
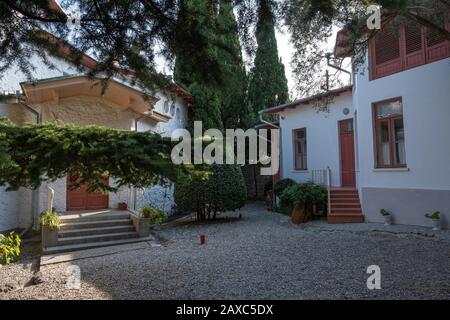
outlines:
[{"label": "rightmost red shutter panel of the upper-floor row, at photo's edge", "polygon": [[[436,16],[436,24],[444,29],[448,28],[448,14],[439,14]],[[447,58],[449,56],[449,41],[439,32],[427,28],[426,45],[427,45],[427,63]]]}]

